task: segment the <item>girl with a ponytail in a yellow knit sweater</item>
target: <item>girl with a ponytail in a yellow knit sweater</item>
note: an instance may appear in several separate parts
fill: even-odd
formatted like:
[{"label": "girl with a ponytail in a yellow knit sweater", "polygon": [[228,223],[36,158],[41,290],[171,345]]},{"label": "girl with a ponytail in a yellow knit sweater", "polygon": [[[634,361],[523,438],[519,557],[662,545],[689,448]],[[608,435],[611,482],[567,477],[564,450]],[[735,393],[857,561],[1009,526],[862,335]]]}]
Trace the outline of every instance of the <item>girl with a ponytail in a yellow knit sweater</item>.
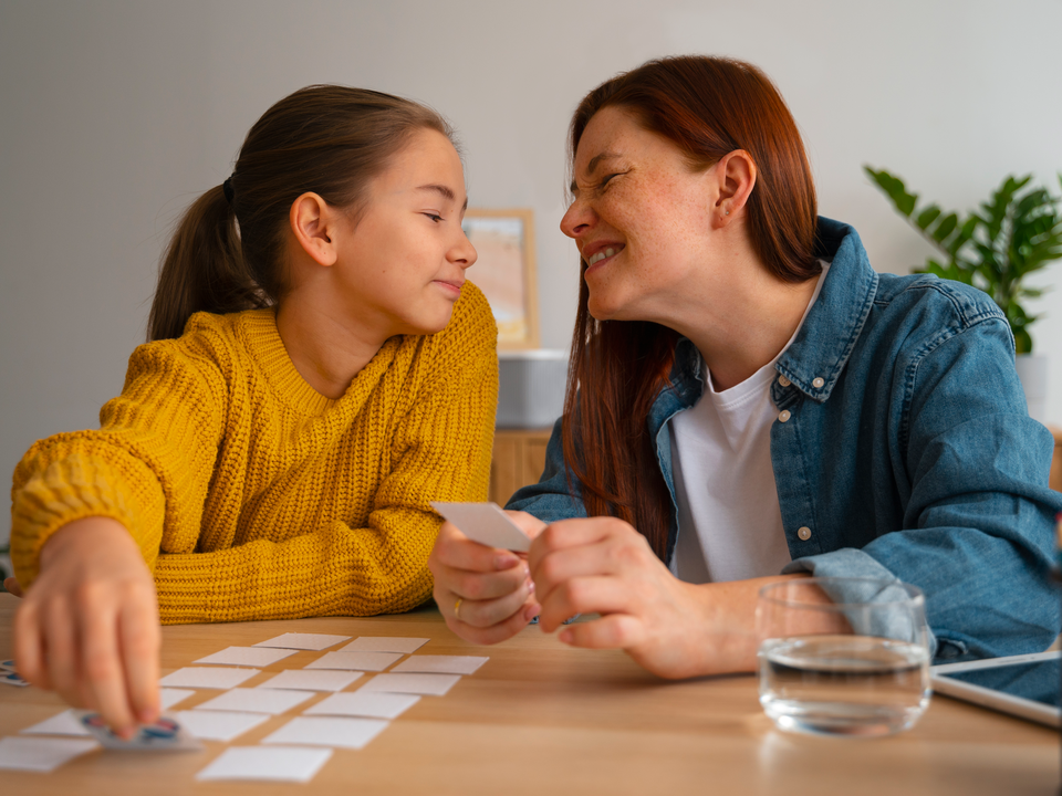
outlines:
[{"label": "girl with a ponytail in a yellow knit sweater", "polygon": [[159,620],[367,616],[431,594],[433,500],[485,500],[496,329],[433,111],[311,86],[180,221],[98,431],[14,474],[20,673],[128,734]]}]

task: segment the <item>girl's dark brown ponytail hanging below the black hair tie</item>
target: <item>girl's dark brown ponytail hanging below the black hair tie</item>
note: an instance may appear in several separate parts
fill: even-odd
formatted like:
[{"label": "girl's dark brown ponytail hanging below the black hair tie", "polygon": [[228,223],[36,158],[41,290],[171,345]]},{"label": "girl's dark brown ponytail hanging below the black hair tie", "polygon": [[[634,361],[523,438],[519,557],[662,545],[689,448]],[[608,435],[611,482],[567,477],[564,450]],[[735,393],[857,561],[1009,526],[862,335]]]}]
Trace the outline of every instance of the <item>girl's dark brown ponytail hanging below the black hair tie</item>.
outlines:
[{"label": "girl's dark brown ponytail hanging below the black hair tie", "polygon": [[197,312],[230,313],[268,306],[240,251],[236,217],[221,186],[185,211],[158,273],[148,339],[180,337]]}]

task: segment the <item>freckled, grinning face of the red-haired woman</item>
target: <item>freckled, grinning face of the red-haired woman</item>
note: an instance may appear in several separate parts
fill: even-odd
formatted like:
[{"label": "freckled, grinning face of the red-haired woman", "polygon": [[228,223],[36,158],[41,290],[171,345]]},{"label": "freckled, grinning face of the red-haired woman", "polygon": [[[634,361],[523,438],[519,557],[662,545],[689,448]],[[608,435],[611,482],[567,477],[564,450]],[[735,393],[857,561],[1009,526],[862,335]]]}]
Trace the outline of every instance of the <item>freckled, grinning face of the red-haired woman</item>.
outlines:
[{"label": "freckled, grinning face of the red-haired woman", "polygon": [[586,263],[591,315],[666,323],[693,270],[715,259],[715,167],[691,170],[674,144],[620,107],[591,118],[574,166],[561,230]]}]

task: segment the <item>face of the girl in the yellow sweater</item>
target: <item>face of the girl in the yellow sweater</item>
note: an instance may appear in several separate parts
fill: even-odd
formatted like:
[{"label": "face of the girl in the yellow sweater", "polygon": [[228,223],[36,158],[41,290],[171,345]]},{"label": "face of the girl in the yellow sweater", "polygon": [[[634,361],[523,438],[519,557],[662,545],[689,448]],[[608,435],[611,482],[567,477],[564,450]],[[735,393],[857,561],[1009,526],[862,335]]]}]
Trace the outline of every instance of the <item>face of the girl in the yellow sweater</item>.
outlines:
[{"label": "face of the girl in the yellow sweater", "polygon": [[465,171],[454,145],[424,129],[372,181],[356,226],[337,244],[339,290],[362,323],[434,334],[449,323],[476,250],[461,229]]}]

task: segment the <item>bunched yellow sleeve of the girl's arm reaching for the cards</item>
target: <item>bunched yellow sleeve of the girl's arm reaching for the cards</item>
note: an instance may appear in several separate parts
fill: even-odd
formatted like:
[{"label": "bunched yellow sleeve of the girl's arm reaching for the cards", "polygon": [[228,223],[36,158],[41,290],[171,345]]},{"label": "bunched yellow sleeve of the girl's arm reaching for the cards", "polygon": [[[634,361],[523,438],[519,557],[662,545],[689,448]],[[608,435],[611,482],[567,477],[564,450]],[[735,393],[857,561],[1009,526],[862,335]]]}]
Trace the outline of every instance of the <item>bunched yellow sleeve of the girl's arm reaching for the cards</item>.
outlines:
[{"label": "bunched yellow sleeve of the girl's arm reaching for the cards", "polygon": [[198,527],[181,507],[201,512],[222,407],[220,374],[185,342],[138,347],[122,395],[100,411],[98,430],[40,440],[15,468],[11,558],[19,583],[32,585],[52,534],[88,516],[122,523],[154,570],[164,523]]}]

